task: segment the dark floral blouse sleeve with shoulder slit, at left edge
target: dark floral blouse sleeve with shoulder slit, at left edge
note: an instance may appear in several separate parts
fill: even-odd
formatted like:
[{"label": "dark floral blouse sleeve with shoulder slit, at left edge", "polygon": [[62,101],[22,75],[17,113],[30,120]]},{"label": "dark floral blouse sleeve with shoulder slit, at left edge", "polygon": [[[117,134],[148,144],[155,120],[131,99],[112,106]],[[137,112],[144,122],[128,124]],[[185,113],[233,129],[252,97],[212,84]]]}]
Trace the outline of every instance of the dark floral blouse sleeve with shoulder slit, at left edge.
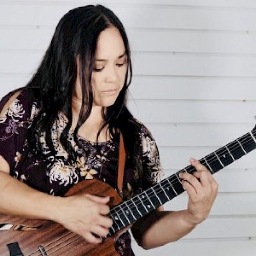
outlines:
[{"label": "dark floral blouse sleeve with shoulder slit, at left edge", "polygon": [[[11,96],[8,94],[0,101],[0,110]],[[11,170],[22,154],[32,110],[35,106],[35,103],[31,102],[31,96],[28,92],[21,92],[0,117],[0,155],[10,165]]]}]

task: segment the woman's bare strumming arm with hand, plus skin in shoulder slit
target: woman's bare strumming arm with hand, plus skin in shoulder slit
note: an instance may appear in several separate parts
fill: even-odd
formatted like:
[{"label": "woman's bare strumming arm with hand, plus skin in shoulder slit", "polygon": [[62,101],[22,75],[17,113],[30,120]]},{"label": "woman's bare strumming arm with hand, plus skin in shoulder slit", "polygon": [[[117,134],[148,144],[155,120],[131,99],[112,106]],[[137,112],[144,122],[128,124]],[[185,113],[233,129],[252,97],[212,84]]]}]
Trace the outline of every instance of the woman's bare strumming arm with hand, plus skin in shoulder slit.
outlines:
[{"label": "woman's bare strumming arm with hand, plus skin in shoulder slit", "polygon": [[[15,93],[2,109],[0,116],[9,108]],[[99,243],[94,234],[104,237],[112,226],[105,215],[110,211],[109,198],[93,195],[55,197],[10,176],[10,165],[0,155],[0,213],[26,219],[44,219],[58,222],[74,231],[90,243]]]}]

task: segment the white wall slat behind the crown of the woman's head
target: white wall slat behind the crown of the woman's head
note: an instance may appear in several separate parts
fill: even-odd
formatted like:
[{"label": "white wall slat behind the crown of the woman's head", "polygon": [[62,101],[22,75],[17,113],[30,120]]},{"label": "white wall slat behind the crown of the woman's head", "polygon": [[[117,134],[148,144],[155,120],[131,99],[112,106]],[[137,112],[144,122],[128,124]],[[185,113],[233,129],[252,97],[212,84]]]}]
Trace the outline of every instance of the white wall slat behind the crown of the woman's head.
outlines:
[{"label": "white wall slat behind the crown of the woman's head", "polygon": [[[79,4],[65,6],[24,6],[2,5],[0,25],[44,25],[56,26],[58,20],[68,10]],[[206,30],[255,30],[255,10],[228,10],[205,8],[155,8],[154,6],[127,6],[125,8],[108,4],[125,27],[135,28],[175,28]],[[39,11],[38,11],[39,10]],[[12,13],[12,15],[4,15]],[[45,17],[48,13],[48,18]],[[16,18],[13,19],[12,17]]]}]

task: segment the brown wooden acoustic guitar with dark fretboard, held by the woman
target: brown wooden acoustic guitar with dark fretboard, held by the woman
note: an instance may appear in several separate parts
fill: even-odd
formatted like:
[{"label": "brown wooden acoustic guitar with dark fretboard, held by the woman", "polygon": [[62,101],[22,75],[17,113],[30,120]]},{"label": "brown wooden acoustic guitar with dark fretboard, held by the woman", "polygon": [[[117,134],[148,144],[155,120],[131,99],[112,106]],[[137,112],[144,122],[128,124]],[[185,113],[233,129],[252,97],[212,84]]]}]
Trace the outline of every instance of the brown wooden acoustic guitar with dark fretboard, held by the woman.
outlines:
[{"label": "brown wooden acoustic guitar with dark fretboard, held by the woman", "polygon": [[[199,160],[215,174],[225,166],[246,155],[256,147],[256,130],[233,140],[217,151]],[[110,214],[113,225],[101,244],[90,244],[78,234],[58,223],[42,220],[25,220],[0,214],[0,255],[119,255],[115,240],[131,225],[160,205],[184,192],[179,173],[193,174],[196,169],[189,165],[165,178],[135,197],[122,201],[117,191],[98,180],[84,180],[74,185],[65,196],[88,193],[110,196]],[[44,209],[42,209],[44,210]]]}]

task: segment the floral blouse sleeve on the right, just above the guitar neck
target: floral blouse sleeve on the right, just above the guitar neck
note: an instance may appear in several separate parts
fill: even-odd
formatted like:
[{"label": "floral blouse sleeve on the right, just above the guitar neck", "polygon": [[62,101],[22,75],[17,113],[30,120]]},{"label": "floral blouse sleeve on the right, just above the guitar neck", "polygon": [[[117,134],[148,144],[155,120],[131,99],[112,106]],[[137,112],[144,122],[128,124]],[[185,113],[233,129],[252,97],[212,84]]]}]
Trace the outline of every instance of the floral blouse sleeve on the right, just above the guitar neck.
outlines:
[{"label": "floral blouse sleeve on the right, just above the guitar neck", "polygon": [[141,141],[143,165],[142,189],[145,190],[161,180],[163,168],[160,163],[156,141],[144,125],[141,126]]}]

